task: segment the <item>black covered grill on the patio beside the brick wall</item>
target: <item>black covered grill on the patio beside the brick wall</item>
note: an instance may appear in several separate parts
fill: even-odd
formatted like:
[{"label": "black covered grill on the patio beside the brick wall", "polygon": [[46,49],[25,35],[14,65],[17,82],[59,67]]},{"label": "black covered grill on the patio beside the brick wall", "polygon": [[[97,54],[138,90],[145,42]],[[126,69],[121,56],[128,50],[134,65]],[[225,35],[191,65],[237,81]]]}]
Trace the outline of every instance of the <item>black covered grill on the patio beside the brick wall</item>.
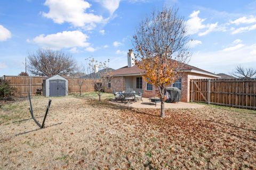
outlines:
[{"label": "black covered grill on the patio beside the brick wall", "polygon": [[178,102],[181,99],[181,90],[177,87],[167,87],[165,88],[165,96],[167,103]]}]

